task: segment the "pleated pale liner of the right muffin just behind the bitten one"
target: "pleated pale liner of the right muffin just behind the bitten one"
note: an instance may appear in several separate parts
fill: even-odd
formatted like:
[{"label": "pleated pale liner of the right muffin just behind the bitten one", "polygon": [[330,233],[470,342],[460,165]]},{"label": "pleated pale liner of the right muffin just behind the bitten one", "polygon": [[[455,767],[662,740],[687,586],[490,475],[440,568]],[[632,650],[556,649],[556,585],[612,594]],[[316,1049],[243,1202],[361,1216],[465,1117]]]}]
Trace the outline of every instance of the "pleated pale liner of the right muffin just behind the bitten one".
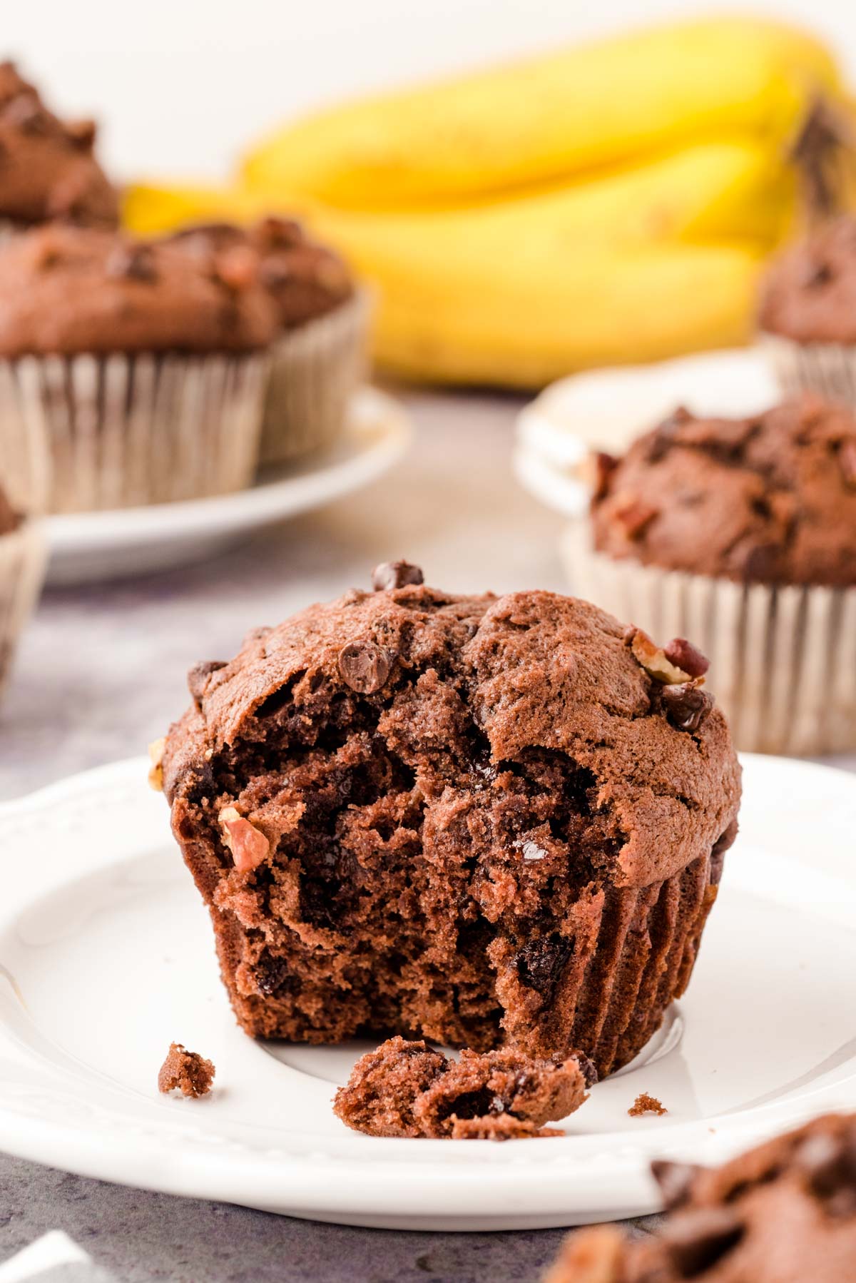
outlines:
[{"label": "pleated pale liner of the right muffin just behind the bitten one", "polygon": [[856,749],[856,588],[773,588],[667,571],[594,552],[586,521],[562,538],[571,586],[660,644],[689,638],[738,748],[819,756]]}]

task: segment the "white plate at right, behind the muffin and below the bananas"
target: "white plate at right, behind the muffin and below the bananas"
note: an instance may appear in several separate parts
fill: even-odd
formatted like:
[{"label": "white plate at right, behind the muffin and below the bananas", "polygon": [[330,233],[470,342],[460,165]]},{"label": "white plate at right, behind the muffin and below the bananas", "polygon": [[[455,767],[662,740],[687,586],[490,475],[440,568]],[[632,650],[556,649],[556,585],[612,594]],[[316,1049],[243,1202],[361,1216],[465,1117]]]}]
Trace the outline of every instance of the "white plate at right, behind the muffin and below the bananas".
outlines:
[{"label": "white plate at right, behind the muffin and below the bananas", "polygon": [[542,503],[576,517],[588,503],[580,464],[590,449],[621,452],[678,405],[737,416],[776,399],[773,373],[751,348],[572,375],[521,411],[515,472]]}]

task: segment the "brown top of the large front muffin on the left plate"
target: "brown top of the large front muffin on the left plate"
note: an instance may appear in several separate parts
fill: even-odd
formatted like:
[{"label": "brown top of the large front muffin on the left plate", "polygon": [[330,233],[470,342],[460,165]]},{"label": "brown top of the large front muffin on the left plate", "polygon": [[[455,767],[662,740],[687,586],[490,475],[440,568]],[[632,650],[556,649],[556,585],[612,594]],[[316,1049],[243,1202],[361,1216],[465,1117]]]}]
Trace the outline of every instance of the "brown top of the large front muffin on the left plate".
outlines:
[{"label": "brown top of the large front muffin on the left plate", "polygon": [[201,263],[178,245],[47,225],[0,245],[0,355],[245,352],[276,309],[244,250]]}]

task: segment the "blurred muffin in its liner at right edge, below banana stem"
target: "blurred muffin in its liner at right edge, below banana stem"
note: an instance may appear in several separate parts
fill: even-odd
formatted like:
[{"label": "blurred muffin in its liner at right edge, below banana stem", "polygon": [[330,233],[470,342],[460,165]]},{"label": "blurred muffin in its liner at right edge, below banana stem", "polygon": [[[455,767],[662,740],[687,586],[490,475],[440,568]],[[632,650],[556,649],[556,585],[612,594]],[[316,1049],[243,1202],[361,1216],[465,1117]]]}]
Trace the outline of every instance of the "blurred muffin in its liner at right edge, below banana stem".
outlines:
[{"label": "blurred muffin in its liner at right edge, below banana stem", "polygon": [[788,395],[856,405],[856,216],[839,214],[787,246],[761,290],[758,326]]}]

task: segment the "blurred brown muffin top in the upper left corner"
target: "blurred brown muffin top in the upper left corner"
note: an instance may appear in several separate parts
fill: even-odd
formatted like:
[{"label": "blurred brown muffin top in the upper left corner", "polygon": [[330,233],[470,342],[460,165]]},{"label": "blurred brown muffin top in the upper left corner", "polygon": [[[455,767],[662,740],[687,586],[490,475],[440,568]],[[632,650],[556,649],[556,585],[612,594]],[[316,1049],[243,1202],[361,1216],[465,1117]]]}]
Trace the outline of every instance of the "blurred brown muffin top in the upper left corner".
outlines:
[{"label": "blurred brown muffin top in the upper left corner", "polygon": [[64,123],[0,63],[0,219],[114,227],[118,198],[92,154],[92,121]]}]

